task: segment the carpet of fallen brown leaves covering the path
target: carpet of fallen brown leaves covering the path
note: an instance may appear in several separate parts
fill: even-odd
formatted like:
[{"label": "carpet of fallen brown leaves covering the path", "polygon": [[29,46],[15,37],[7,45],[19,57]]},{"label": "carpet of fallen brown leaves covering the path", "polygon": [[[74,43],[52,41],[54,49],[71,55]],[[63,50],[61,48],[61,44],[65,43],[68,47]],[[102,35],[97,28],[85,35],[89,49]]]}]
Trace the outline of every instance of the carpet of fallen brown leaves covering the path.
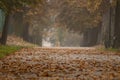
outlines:
[{"label": "carpet of fallen brown leaves covering the path", "polygon": [[120,55],[94,48],[25,48],[0,60],[0,80],[120,80]]}]

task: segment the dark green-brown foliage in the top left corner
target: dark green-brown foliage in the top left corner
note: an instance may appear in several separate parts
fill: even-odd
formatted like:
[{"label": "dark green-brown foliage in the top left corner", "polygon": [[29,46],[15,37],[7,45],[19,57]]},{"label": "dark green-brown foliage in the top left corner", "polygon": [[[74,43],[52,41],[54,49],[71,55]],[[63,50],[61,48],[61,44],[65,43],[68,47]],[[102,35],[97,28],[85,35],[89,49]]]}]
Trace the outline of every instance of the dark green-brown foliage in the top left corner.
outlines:
[{"label": "dark green-brown foliage in the top left corner", "polygon": [[0,0],[0,8],[8,13],[29,5],[35,6],[38,2],[42,2],[42,0]]}]

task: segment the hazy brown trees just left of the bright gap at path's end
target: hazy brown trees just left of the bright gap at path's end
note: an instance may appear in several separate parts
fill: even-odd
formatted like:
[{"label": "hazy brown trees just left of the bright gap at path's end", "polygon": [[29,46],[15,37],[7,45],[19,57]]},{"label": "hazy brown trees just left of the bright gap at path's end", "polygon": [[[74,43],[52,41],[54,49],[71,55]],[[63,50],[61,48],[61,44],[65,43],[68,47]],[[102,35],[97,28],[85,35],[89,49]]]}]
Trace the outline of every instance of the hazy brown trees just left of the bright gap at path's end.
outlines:
[{"label": "hazy brown trees just left of the bright gap at path's end", "polygon": [[[43,29],[49,24],[47,20],[47,3],[29,9],[24,16],[23,40],[42,46]],[[26,35],[24,35],[26,34]]]}]

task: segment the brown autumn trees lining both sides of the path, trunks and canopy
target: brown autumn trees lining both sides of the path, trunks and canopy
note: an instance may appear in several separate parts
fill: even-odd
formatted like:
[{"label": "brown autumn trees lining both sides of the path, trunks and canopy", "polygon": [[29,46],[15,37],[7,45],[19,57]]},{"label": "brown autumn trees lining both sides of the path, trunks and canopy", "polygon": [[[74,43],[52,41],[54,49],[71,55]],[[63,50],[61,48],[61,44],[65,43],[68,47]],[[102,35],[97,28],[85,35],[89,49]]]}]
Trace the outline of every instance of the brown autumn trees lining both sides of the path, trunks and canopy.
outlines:
[{"label": "brown autumn trees lining both sides of the path, trunks and canopy", "polygon": [[120,0],[0,0],[0,8],[6,13],[1,44],[7,40],[10,16],[19,13],[16,18],[22,17],[24,40],[30,40],[31,28],[42,41],[41,31],[52,25],[83,34],[83,46],[120,47]]}]

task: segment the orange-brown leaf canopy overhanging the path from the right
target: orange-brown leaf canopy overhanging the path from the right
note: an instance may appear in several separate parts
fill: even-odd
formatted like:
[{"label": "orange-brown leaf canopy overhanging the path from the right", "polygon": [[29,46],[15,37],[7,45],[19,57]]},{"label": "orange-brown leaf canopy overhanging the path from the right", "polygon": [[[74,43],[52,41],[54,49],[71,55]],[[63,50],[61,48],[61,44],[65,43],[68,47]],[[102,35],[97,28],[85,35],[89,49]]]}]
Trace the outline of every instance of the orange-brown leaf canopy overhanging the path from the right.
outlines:
[{"label": "orange-brown leaf canopy overhanging the path from the right", "polygon": [[102,15],[111,4],[115,4],[115,0],[53,0],[53,4],[52,8],[60,12],[57,22],[74,31],[83,31],[85,28],[98,26]]}]

